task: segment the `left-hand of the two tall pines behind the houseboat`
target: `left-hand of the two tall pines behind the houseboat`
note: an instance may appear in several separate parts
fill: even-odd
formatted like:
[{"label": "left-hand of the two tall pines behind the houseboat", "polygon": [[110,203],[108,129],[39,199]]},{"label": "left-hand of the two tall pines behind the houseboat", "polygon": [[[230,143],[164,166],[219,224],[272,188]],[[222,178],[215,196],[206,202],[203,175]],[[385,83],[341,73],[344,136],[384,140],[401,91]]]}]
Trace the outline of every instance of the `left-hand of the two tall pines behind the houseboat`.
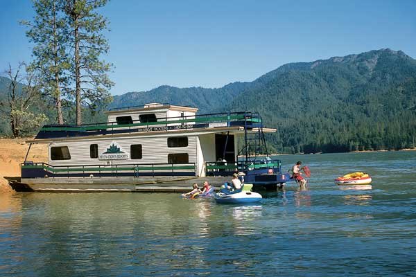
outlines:
[{"label": "left-hand of the two tall pines behind the houseboat", "polygon": [[36,15],[33,21],[22,21],[29,26],[26,32],[33,47],[31,70],[40,72],[42,90],[55,102],[58,124],[64,123],[62,115],[62,87],[67,84],[65,72],[69,69],[67,54],[69,27],[64,19],[64,0],[34,0]]}]

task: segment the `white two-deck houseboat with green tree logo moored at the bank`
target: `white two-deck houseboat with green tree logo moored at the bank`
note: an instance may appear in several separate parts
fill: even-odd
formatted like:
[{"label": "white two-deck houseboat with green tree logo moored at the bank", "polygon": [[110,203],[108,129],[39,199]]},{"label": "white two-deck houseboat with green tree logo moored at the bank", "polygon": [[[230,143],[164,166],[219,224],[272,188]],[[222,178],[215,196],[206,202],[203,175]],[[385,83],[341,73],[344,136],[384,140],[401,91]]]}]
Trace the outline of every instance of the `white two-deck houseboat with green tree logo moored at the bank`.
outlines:
[{"label": "white two-deck houseboat with green tree logo moored at the bank", "polygon": [[[268,157],[261,116],[241,111],[150,103],[106,111],[107,122],[44,125],[29,143],[46,143],[48,163],[21,163],[19,188],[35,191],[177,191],[219,187],[234,172],[245,182],[276,188],[288,181]],[[266,156],[261,155],[266,154]],[[17,186],[17,183],[15,184]]]}]

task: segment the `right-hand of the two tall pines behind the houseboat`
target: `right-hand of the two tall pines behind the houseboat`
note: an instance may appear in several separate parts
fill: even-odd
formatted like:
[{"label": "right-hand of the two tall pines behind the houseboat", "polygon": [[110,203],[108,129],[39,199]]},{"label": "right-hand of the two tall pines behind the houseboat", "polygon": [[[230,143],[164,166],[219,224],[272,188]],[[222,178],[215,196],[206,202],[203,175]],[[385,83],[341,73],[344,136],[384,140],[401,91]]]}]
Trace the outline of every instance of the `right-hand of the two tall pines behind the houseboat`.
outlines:
[{"label": "right-hand of the two tall pines behind the houseboat", "polygon": [[100,60],[109,51],[103,31],[107,19],[96,10],[105,6],[107,0],[66,0],[65,12],[71,26],[72,78],[75,82],[76,124],[82,123],[84,105],[96,109],[98,102],[110,99],[109,89],[113,82],[108,78],[112,64]]}]

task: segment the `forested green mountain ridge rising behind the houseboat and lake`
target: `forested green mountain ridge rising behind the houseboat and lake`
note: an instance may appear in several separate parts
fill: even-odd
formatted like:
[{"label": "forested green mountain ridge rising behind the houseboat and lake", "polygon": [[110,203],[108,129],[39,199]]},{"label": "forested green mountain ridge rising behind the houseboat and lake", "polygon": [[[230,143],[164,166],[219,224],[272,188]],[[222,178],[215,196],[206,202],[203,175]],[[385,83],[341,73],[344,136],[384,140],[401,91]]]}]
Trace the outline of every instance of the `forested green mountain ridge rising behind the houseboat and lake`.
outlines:
[{"label": "forested green mountain ridge rising behind the houseboat and lake", "polygon": [[[114,96],[110,108],[148,102],[198,107],[200,114],[259,111],[268,127],[278,129],[268,136],[277,152],[412,148],[416,60],[386,48],[284,64],[253,82],[217,89],[165,85],[129,92]],[[86,123],[103,119],[103,114],[85,116]]]}]

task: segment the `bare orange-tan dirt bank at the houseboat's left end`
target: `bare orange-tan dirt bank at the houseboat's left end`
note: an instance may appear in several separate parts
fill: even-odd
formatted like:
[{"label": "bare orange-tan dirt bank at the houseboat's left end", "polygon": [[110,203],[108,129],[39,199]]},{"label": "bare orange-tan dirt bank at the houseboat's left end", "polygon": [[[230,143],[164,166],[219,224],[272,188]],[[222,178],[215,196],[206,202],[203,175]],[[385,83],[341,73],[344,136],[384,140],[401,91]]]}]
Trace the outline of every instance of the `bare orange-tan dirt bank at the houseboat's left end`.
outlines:
[{"label": "bare orange-tan dirt bank at the houseboat's left end", "polygon": [[[20,163],[24,161],[29,145],[25,139],[0,139],[0,193],[12,193],[8,181],[3,177],[20,176]],[[28,154],[28,161],[47,162],[47,144],[33,144]]]}]

